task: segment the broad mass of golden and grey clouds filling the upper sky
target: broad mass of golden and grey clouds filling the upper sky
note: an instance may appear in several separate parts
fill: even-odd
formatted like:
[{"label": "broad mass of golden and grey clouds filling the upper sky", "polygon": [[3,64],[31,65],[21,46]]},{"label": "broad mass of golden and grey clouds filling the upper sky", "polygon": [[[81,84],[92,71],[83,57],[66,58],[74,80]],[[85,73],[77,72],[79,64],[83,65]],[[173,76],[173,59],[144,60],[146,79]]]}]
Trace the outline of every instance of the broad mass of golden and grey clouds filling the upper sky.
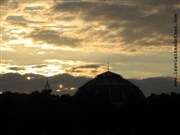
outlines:
[{"label": "broad mass of golden and grey clouds filling the upper sky", "polygon": [[[113,52],[131,54],[165,50],[172,44],[175,2],[71,1],[51,4],[20,4],[16,10],[19,15],[11,12],[6,21],[28,28],[23,38],[33,39],[34,44],[81,47],[85,51],[100,52],[112,48]],[[38,10],[43,8],[46,13]]]}]

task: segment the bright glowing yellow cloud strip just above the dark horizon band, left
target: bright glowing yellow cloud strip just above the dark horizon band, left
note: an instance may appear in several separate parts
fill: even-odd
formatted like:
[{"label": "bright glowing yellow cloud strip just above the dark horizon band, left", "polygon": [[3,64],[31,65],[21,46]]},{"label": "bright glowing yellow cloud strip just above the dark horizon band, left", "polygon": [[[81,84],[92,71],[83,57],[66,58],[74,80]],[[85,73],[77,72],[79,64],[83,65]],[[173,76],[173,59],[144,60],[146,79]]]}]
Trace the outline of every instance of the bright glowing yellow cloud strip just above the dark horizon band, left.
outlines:
[{"label": "bright glowing yellow cloud strip just above the dark horizon band, left", "polygon": [[[23,55],[24,56],[24,55]],[[50,55],[48,55],[50,56]],[[104,71],[104,65],[97,62],[76,61],[76,60],[61,60],[60,59],[43,59],[35,61],[37,57],[32,59],[36,64],[19,64],[16,59],[2,61],[2,74],[4,73],[19,73],[19,74],[38,74],[44,76],[54,76],[62,73],[68,73],[73,76],[92,77]],[[22,55],[20,56],[21,59]],[[27,58],[27,56],[26,56]],[[28,62],[27,62],[28,63]]]}]

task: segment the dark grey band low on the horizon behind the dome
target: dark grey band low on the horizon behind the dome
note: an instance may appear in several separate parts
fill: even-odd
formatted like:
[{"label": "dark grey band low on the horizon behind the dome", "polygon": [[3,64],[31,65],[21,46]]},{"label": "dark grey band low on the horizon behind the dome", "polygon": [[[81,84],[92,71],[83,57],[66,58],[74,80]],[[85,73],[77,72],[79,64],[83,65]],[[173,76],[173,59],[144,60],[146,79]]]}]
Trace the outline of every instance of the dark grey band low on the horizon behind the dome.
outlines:
[{"label": "dark grey band low on the horizon behind the dome", "polygon": [[[29,77],[27,79],[27,77]],[[1,92],[12,91],[20,93],[31,93],[32,91],[41,91],[44,88],[47,77],[36,74],[18,74],[18,73],[8,73],[0,75],[1,78]],[[60,74],[52,77],[48,77],[51,88],[54,94],[71,94],[73,95],[77,88],[85,84],[92,78],[88,77],[74,77],[70,74]],[[149,96],[151,93],[171,93],[180,91],[180,82],[178,82],[178,87],[174,87],[173,77],[150,77],[145,79],[128,79],[135,85],[139,86],[143,91],[145,96]],[[58,86],[62,84],[64,89],[57,92]],[[65,90],[66,88],[66,90]],[[71,90],[70,88],[74,88]],[[179,89],[179,90],[178,90]]]}]

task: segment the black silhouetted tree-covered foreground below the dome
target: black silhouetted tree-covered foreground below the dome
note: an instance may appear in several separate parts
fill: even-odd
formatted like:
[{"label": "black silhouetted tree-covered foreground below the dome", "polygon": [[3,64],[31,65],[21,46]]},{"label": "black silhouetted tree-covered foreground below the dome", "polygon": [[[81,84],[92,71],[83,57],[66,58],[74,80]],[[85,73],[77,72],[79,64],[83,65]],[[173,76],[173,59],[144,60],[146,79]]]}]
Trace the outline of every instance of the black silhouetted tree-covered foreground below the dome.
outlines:
[{"label": "black silhouetted tree-covered foreground below the dome", "polygon": [[0,95],[1,135],[178,135],[179,126],[180,94],[175,93],[121,106],[105,97]]}]

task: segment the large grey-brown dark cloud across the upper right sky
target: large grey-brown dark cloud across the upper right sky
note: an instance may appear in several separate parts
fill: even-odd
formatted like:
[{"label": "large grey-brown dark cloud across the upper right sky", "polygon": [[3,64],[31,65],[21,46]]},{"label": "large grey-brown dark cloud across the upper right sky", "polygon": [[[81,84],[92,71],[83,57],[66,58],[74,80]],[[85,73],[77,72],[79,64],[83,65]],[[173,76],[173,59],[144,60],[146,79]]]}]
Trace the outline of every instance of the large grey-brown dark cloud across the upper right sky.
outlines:
[{"label": "large grey-brown dark cloud across the upper right sky", "polygon": [[[64,2],[54,6],[55,11],[69,12],[84,21],[97,21],[121,37],[125,45],[170,45],[173,14],[177,12],[176,1],[145,2]],[[123,29],[123,30],[121,30]],[[108,38],[104,37],[105,40]],[[148,40],[151,39],[151,40]]]}]

